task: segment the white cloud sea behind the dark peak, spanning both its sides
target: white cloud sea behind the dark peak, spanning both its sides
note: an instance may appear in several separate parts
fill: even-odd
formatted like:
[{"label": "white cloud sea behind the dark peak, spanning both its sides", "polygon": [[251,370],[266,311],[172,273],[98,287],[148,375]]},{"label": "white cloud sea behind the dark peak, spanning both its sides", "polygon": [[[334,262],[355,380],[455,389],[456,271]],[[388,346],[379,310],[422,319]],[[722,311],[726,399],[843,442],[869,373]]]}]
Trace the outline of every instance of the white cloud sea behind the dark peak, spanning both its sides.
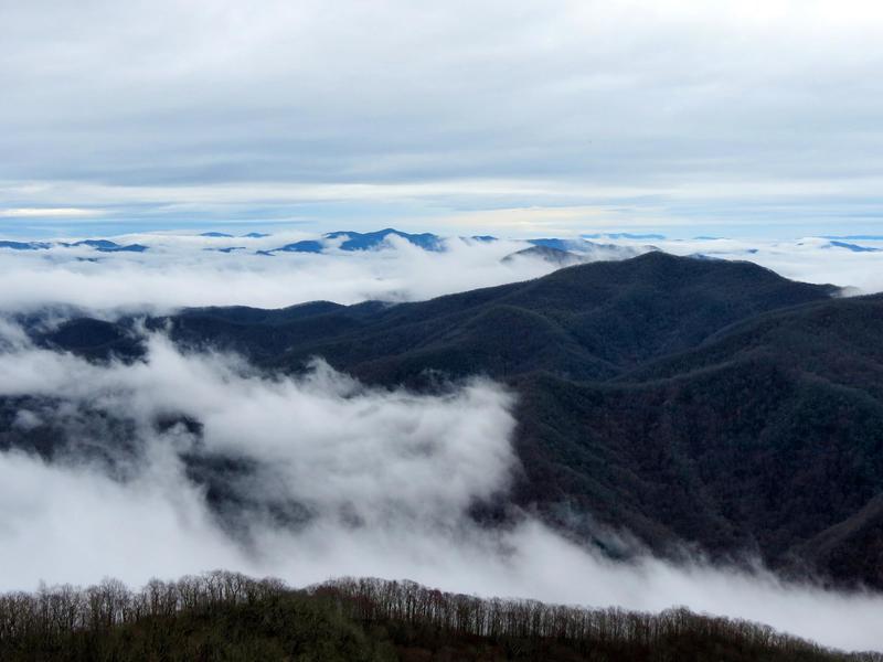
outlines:
[{"label": "white cloud sea behind the dark peak, spanning both its sides", "polygon": [[[0,312],[73,306],[92,314],[120,310],[164,313],[189,306],[281,308],[315,300],[357,303],[424,300],[464,290],[544,276],[561,264],[542,256],[508,256],[530,248],[524,239],[449,238],[429,252],[391,236],[381,249],[323,254],[258,252],[315,236],[258,237],[140,234],[115,237],[143,253],[103,253],[57,244],[38,250],[0,247]],[[574,241],[579,241],[578,238]],[[579,259],[625,259],[659,248],[675,255],[749,260],[808,282],[833,284],[851,293],[883,291],[883,239],[662,239],[624,236],[592,239],[600,247]],[[237,248],[242,247],[242,248]],[[222,249],[236,248],[230,253]]]}]

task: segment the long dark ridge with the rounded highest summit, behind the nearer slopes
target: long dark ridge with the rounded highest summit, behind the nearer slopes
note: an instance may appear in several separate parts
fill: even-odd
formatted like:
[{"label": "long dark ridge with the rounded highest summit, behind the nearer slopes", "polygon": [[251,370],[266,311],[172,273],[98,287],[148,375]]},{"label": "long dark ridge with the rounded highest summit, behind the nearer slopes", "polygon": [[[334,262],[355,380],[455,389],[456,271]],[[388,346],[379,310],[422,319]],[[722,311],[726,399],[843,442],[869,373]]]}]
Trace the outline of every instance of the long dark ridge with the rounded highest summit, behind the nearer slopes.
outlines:
[{"label": "long dark ridge with the rounded highest summit, behind the nearer slopes", "polygon": [[[189,345],[220,345],[287,370],[320,355],[384,384],[418,383],[425,371],[506,377],[546,370],[598,380],[695,346],[747,317],[832,291],[748,263],[649,253],[418,303],[192,309],[171,321],[173,337]],[[150,323],[162,328],[166,321]],[[89,355],[113,352],[106,331],[95,344],[77,331],[88,323],[72,321],[43,340]],[[125,342],[118,349],[131,353]]]}]

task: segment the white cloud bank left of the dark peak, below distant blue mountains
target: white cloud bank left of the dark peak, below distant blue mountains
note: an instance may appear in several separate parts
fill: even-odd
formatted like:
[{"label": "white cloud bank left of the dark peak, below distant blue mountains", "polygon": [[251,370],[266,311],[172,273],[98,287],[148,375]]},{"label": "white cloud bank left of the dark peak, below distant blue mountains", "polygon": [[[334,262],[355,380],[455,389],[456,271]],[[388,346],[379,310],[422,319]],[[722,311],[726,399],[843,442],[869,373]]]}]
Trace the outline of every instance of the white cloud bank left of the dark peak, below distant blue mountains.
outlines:
[{"label": "white cloud bank left of the dark peak, below distant blue mountains", "polygon": [[[382,250],[256,254],[304,235],[209,238],[132,235],[119,243],[146,253],[99,253],[87,246],[44,250],[0,248],[0,310],[47,305],[93,311],[169,311],[187,306],[281,308],[315,300],[422,300],[543,276],[555,267],[538,259],[501,261],[521,242],[451,239],[432,253],[392,237]],[[241,253],[216,248],[245,246]]]}]

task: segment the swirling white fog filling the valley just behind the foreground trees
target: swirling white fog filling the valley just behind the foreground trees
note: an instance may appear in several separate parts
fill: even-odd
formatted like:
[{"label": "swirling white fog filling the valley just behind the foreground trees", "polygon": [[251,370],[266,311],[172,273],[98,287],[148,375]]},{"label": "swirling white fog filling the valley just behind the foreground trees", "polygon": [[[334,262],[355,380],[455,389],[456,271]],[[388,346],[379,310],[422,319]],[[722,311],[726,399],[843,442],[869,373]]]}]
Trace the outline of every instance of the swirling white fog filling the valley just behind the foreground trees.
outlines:
[{"label": "swirling white fog filling the valley just behind the foreground trees", "polygon": [[[504,493],[519,470],[514,396],[492,382],[427,395],[369,388],[321,362],[296,377],[260,374],[161,334],[129,364],[33,346],[9,323],[0,338],[4,415],[32,436],[52,420],[64,430],[54,453],[0,452],[0,588],[137,585],[214,567],[295,585],[406,577],[486,596],[687,605],[883,648],[881,596],[701,562],[614,563],[528,514],[477,524],[472,505]],[[194,472],[212,462],[214,487]]]}]

